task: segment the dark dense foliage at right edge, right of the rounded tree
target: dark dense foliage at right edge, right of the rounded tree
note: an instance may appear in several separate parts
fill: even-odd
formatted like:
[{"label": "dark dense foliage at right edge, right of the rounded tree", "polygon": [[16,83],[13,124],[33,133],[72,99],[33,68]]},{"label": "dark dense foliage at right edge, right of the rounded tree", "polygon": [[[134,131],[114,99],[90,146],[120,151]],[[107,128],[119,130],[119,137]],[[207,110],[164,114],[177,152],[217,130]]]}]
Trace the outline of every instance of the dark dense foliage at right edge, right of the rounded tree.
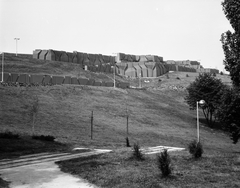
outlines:
[{"label": "dark dense foliage at right edge, right of the rounded tree", "polygon": [[228,88],[222,95],[217,117],[224,123],[224,129],[230,133],[233,143],[240,139],[240,89]]}]

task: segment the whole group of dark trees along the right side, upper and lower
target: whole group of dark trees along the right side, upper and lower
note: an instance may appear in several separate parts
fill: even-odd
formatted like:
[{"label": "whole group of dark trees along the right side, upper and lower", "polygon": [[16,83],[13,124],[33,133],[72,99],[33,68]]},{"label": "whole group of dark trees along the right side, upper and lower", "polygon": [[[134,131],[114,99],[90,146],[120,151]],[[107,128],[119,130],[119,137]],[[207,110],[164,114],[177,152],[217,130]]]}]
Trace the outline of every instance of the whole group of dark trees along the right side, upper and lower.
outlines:
[{"label": "whole group of dark trees along the right side, upper and lower", "polygon": [[202,110],[207,124],[229,132],[236,144],[240,139],[240,1],[224,0],[222,9],[233,29],[221,35],[223,63],[232,85],[223,84],[213,74],[200,74],[187,88],[185,99],[191,109],[196,109],[196,101],[205,100]]}]

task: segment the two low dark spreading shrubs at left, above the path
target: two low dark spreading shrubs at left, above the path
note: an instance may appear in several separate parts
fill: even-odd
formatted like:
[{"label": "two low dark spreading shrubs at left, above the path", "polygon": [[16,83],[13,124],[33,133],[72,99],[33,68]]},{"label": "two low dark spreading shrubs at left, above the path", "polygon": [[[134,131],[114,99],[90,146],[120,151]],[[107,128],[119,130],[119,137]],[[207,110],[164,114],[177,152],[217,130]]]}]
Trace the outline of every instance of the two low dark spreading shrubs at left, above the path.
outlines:
[{"label": "two low dark spreading shrubs at left, above the path", "polygon": [[[0,138],[20,139],[20,135],[17,133],[12,133],[10,131],[5,131],[5,132],[0,133]],[[32,139],[53,142],[55,140],[55,137],[51,136],[51,135],[33,135]]]}]

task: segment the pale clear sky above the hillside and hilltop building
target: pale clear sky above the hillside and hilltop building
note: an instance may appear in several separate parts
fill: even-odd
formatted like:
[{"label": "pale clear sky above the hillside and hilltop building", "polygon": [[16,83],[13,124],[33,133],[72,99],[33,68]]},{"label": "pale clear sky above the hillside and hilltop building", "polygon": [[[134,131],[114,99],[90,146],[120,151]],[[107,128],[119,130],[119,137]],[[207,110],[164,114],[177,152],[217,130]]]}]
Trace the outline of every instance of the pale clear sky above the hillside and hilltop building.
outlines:
[{"label": "pale clear sky above the hillside and hilltop building", "polygon": [[226,72],[222,1],[0,0],[0,51],[158,55]]}]

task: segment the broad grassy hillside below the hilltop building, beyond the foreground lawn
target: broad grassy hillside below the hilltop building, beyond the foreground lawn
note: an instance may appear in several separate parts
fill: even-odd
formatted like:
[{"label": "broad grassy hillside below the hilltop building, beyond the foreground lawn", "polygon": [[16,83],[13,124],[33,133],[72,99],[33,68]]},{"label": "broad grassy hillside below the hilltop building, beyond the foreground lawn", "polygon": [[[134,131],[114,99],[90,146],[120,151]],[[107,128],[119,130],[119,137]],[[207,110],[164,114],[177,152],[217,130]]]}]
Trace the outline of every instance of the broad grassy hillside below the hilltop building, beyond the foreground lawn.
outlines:
[{"label": "broad grassy hillside below the hilltop building, beyond the foreground lawn", "polygon": [[[112,78],[111,74],[84,71],[78,64],[36,60],[31,55],[16,57],[14,54],[6,54],[5,71],[99,80]],[[38,98],[36,133],[53,135],[61,142],[87,147],[124,146],[128,111],[131,143],[186,147],[190,140],[196,138],[196,111],[190,111],[184,102],[185,87],[196,76],[197,73],[173,72],[158,78],[141,78],[142,89],[126,90],[80,85],[28,88],[1,86],[0,128],[30,134],[32,124],[29,113],[34,100]],[[226,83],[230,82],[226,75],[218,77]],[[117,79],[139,86],[138,79],[120,76]],[[94,131],[91,140],[92,111]],[[211,150],[235,151],[237,148],[231,144],[227,135],[203,124],[201,140],[205,148]]]}]

